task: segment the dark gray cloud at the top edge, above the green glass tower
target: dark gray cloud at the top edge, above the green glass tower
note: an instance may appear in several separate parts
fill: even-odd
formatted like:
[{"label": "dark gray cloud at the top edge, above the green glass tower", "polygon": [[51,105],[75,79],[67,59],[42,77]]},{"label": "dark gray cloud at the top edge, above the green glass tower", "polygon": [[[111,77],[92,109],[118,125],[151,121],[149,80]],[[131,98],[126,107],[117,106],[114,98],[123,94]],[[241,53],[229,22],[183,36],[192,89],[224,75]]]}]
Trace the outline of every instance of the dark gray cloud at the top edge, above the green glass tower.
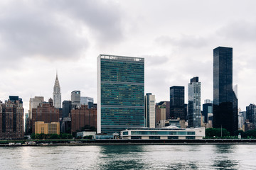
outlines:
[{"label": "dark gray cloud at the top edge, above the green glass tower", "polygon": [[121,12],[113,1],[54,1],[53,4],[58,10],[85,23],[99,42],[109,44],[122,40]]}]

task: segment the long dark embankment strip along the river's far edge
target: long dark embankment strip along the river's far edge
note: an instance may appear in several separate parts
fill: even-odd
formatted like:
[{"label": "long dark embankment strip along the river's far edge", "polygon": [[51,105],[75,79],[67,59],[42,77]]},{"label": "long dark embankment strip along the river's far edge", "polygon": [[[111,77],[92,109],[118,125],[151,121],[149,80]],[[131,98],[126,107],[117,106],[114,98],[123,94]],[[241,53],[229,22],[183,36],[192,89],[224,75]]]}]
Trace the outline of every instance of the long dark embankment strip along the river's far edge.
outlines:
[{"label": "long dark embankment strip along the river's far edge", "polygon": [[204,140],[26,140],[0,141],[0,147],[17,146],[85,146],[85,145],[256,145],[256,139]]}]

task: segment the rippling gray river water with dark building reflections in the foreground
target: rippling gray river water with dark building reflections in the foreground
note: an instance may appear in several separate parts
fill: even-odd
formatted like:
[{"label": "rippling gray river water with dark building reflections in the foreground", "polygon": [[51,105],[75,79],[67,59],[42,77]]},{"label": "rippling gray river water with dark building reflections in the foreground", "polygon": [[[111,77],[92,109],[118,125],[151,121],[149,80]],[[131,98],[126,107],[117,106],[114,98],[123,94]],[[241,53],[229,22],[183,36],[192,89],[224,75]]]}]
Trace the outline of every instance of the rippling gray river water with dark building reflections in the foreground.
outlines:
[{"label": "rippling gray river water with dark building reflections in the foreground", "polygon": [[256,145],[0,147],[0,169],[256,169]]}]

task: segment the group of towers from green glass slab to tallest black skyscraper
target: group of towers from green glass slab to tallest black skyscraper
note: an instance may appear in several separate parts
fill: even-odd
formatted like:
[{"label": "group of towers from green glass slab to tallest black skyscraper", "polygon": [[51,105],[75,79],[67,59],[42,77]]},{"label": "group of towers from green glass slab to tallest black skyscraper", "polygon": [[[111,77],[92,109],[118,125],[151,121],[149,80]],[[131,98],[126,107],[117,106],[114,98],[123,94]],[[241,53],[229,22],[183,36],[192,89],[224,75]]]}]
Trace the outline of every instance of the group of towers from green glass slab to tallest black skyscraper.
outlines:
[{"label": "group of towers from green glass slab to tallest black skyscraper", "polygon": [[170,101],[155,103],[151,93],[144,96],[143,58],[100,55],[97,58],[97,132],[156,128],[175,122],[188,128],[226,128],[231,134],[238,130],[232,48],[213,50],[213,102],[206,100],[203,111],[199,78],[193,77],[188,83],[187,104],[184,91],[184,86],[171,86]]}]

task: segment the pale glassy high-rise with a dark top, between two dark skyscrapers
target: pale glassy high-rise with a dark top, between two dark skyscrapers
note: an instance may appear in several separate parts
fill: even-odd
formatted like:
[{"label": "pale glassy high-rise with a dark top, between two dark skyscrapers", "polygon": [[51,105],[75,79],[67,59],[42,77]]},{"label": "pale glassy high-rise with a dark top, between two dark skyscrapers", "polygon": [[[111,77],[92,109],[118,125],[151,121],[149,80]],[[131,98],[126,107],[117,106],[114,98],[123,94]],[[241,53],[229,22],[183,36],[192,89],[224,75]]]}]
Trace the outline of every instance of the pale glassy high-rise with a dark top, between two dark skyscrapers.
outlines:
[{"label": "pale glassy high-rise with a dark top, between two dark skyscrapers", "polygon": [[201,128],[201,82],[193,77],[188,84],[188,126]]}]

